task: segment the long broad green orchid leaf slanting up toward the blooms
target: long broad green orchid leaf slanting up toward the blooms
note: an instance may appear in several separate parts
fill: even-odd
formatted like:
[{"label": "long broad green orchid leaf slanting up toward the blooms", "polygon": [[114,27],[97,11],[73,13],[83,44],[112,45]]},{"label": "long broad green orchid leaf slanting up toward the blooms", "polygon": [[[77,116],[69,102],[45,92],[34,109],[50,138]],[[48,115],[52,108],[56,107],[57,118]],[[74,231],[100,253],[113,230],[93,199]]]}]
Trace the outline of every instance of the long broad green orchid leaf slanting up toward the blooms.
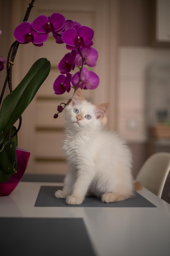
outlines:
[{"label": "long broad green orchid leaf slanting up toward the blooms", "polygon": [[36,61],[20,84],[3,101],[0,109],[0,132],[9,130],[22,115],[50,72],[46,58]]}]

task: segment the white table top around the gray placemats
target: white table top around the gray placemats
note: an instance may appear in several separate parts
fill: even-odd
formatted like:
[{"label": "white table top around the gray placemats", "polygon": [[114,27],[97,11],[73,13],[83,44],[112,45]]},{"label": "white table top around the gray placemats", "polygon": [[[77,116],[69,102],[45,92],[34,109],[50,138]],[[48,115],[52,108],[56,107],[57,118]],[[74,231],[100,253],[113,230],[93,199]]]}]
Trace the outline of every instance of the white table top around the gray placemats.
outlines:
[{"label": "white table top around the gray placemats", "polygon": [[34,207],[42,185],[61,183],[20,182],[0,197],[0,217],[83,218],[97,256],[170,256],[170,204],[147,189],[157,207]]}]

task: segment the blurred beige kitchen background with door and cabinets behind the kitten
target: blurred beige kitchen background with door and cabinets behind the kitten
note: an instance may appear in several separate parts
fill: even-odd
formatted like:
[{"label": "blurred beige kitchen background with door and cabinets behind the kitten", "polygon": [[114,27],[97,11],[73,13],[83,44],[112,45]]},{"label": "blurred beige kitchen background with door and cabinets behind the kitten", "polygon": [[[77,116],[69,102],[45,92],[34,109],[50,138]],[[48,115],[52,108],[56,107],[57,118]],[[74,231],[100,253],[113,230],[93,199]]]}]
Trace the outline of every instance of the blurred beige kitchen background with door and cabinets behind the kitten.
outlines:
[{"label": "blurred beige kitchen background with door and cabinets behind the kitten", "polygon": [[[0,56],[14,41],[29,0],[0,0]],[[99,87],[86,91],[93,103],[109,102],[107,128],[126,139],[136,176],[149,155],[170,152],[170,0],[35,0],[28,21],[38,15],[62,13],[95,31],[99,52]],[[15,87],[40,57],[51,61],[51,72],[22,116],[19,146],[31,151],[27,173],[66,173],[62,153],[63,116],[53,119],[57,105],[71,94],[56,96],[57,65],[66,54],[52,36],[43,47],[20,45],[13,65]],[[5,71],[0,73],[2,87]]]}]

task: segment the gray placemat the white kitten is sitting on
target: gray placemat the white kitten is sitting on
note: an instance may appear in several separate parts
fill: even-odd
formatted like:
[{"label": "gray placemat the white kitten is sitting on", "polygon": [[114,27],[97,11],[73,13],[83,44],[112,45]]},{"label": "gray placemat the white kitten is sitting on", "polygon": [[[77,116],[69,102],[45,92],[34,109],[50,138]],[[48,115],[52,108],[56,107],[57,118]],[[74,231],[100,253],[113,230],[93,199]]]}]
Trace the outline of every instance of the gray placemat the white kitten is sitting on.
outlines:
[{"label": "gray placemat the white kitten is sitting on", "polygon": [[135,193],[133,198],[120,202],[103,203],[99,198],[89,196],[84,199],[82,204],[68,205],[65,203],[65,199],[57,199],[54,197],[54,193],[58,189],[62,189],[62,187],[41,186],[35,207],[156,207],[138,193]]}]

